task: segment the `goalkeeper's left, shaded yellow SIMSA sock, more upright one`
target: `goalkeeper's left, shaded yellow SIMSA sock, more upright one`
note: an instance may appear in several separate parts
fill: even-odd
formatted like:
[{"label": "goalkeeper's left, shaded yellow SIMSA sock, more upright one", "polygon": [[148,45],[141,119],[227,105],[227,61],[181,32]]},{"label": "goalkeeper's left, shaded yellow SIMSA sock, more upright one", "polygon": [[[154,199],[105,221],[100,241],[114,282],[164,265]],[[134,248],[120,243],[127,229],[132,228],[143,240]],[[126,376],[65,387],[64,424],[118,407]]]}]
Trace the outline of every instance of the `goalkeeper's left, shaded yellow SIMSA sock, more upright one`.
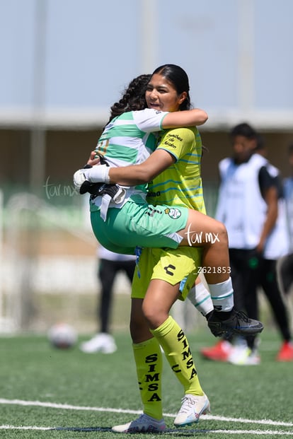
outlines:
[{"label": "goalkeeper's left, shaded yellow SIMSA sock, more upright one", "polygon": [[144,413],[156,419],[163,418],[161,375],[162,353],[158,341],[153,337],[132,345],[137,366],[139,392]]}]

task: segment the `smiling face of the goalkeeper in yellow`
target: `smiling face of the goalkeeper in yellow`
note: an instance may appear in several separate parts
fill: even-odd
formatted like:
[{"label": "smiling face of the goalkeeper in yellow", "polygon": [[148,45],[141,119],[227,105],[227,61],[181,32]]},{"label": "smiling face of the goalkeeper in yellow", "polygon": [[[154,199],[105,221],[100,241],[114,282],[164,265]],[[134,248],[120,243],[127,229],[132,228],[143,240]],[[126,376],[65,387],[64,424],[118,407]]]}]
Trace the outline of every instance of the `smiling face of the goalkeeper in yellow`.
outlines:
[{"label": "smiling face of the goalkeeper in yellow", "polygon": [[146,87],[146,103],[159,111],[178,111],[186,93],[177,93],[176,88],[164,76],[154,74]]}]

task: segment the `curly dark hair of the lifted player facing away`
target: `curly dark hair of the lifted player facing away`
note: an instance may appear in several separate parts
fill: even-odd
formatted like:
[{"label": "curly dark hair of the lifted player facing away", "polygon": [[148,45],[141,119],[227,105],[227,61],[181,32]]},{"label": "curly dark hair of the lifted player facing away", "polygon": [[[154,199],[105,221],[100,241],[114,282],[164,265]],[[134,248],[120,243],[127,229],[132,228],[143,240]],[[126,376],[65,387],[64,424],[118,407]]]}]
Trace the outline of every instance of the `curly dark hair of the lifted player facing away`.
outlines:
[{"label": "curly dark hair of the lifted player facing away", "polygon": [[122,115],[127,111],[144,110],[146,105],[146,86],[151,79],[151,75],[139,75],[132,79],[130,85],[125,89],[122,98],[110,108],[110,119]]}]

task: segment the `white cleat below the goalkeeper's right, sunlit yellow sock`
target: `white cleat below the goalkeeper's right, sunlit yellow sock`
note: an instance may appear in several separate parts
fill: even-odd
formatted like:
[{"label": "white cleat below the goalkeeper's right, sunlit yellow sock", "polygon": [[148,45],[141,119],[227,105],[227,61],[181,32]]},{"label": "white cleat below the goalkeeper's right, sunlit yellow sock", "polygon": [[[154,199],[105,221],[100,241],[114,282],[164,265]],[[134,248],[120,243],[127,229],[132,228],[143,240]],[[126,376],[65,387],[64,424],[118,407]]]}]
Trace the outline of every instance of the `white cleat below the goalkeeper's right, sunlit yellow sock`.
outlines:
[{"label": "white cleat below the goalkeeper's right, sunlit yellow sock", "polygon": [[182,399],[181,409],[175,418],[174,425],[176,427],[190,426],[192,423],[200,421],[200,415],[210,411],[209,399],[206,394],[195,396],[193,394],[185,394]]}]

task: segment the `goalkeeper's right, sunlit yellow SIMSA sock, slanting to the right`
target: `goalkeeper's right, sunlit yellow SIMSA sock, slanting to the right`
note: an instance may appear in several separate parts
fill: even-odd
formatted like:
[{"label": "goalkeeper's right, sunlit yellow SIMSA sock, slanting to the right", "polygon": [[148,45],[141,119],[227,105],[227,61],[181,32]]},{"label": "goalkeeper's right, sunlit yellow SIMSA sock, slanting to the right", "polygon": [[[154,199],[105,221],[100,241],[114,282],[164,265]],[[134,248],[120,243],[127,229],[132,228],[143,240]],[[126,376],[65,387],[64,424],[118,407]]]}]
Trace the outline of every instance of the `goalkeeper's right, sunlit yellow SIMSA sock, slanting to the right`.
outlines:
[{"label": "goalkeeper's right, sunlit yellow SIMSA sock, slanting to the right", "polygon": [[190,352],[188,339],[183,330],[171,316],[154,330],[151,330],[161,344],[171,369],[184,387],[185,393],[202,396],[193,356]]}]

